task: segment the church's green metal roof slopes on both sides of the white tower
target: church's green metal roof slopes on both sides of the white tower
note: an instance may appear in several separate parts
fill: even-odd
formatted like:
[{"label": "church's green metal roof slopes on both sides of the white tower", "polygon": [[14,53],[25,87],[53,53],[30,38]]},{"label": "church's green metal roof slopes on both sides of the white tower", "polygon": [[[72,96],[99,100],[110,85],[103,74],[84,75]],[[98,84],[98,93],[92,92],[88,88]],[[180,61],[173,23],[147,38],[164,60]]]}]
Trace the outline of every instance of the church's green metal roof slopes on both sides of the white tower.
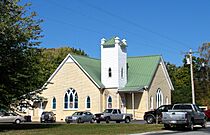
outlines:
[{"label": "church's green metal roof slopes on both sides of the white tower", "polygon": [[[101,61],[85,56],[72,56],[90,77],[101,88],[104,88],[101,83]],[[144,86],[149,87],[160,60],[160,55],[128,57],[128,81],[126,86],[119,91],[141,91]]]}]

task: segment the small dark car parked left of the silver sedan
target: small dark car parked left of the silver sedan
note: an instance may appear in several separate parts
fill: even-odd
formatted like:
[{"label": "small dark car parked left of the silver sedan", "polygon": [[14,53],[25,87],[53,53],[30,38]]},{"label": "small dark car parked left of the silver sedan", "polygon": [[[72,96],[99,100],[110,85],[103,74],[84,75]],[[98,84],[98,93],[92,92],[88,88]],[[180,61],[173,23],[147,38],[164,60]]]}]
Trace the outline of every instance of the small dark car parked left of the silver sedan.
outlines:
[{"label": "small dark car parked left of the silver sedan", "polygon": [[42,115],[40,117],[40,122],[56,122],[56,114],[53,112],[42,112]]}]

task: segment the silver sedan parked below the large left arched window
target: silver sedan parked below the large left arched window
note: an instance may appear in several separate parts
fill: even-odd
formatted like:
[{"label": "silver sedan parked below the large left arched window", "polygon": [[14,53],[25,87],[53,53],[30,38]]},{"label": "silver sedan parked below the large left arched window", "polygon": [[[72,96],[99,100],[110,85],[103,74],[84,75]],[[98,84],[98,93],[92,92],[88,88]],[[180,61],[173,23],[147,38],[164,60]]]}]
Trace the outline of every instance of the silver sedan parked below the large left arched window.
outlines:
[{"label": "silver sedan parked below the large left arched window", "polygon": [[94,123],[94,115],[91,112],[75,112],[72,116],[66,116],[65,121],[66,123]]}]

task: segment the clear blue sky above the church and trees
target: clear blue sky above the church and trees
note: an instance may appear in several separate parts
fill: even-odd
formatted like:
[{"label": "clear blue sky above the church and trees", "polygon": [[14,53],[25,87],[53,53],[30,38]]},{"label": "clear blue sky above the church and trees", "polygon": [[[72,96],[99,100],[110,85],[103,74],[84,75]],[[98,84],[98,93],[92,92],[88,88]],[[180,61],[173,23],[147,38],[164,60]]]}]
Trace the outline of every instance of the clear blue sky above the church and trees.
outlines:
[{"label": "clear blue sky above the church and trees", "polygon": [[100,58],[100,39],[125,38],[128,56],[161,54],[181,65],[182,52],[210,41],[209,0],[23,0],[44,22],[41,47],[81,48]]}]

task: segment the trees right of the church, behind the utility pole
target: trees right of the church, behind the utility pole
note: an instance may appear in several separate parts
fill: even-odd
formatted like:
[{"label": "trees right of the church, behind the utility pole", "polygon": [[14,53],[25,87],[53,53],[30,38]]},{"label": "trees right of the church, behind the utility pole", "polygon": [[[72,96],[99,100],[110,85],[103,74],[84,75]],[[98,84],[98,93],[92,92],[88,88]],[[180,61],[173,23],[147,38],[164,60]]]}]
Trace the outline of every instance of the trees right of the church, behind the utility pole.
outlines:
[{"label": "trees right of the church, behind the utility pole", "polygon": [[[203,58],[193,57],[195,100],[198,105],[210,106],[209,68],[202,66],[204,61]],[[166,65],[175,89],[172,91],[172,103],[191,103],[190,65],[186,64],[186,59],[183,59],[183,65],[179,67],[170,63]]]}]

